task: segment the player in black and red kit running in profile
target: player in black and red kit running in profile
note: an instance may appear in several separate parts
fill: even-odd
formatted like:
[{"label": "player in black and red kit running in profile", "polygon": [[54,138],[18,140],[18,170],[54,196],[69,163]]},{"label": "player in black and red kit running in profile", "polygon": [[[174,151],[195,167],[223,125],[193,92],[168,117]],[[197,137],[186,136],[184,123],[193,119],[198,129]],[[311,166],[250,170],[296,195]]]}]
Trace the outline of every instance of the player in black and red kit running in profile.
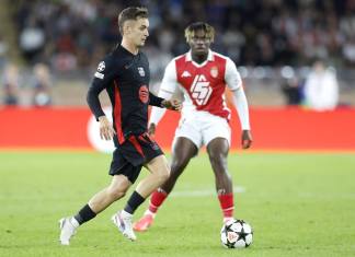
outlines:
[{"label": "player in black and red kit running in profile", "polygon": [[[124,197],[145,166],[150,174],[138,184],[124,210],[112,217],[123,235],[135,241],[133,213],[170,174],[164,154],[147,132],[148,105],[173,110],[180,110],[181,106],[178,101],[167,101],[149,92],[149,63],[139,50],[149,35],[148,10],[136,7],[123,10],[118,15],[118,27],[122,43],[99,63],[87,97],[100,122],[101,138],[113,139],[116,147],[110,168],[112,183],[94,195],[76,215],[60,220],[62,245],[69,245],[81,224]],[[113,125],[101,108],[99,94],[103,90],[107,91],[113,105]]]}]

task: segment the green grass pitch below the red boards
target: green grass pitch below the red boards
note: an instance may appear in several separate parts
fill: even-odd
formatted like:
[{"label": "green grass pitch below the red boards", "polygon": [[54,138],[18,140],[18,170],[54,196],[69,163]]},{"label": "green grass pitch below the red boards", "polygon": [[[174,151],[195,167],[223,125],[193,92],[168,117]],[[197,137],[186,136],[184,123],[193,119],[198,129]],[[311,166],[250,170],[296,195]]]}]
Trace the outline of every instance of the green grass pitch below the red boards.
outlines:
[{"label": "green grass pitch below the red boards", "polygon": [[[73,214],[110,183],[110,155],[0,152],[0,256],[354,256],[355,155],[233,153],[236,217],[253,245],[220,245],[221,213],[206,154],[195,157],[147,233],[135,243],[111,223],[127,197],[58,243],[58,219]],[[147,174],[142,172],[141,176]],[[194,191],[194,195],[188,195]],[[129,194],[128,194],[129,195]],[[148,201],[136,212],[139,218]]]}]

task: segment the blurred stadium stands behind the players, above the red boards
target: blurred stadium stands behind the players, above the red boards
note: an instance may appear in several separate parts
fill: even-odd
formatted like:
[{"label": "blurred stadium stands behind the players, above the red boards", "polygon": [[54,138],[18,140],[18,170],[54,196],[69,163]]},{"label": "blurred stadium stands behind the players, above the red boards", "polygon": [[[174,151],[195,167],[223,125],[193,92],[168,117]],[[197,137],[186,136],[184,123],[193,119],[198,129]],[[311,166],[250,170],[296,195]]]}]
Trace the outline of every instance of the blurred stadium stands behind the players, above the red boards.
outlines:
[{"label": "blurred stadium stands behind the players, above the red boards", "polygon": [[[19,67],[19,104],[33,103],[33,67],[44,62],[51,73],[53,104],[84,105],[82,96],[100,58],[119,40],[118,10],[135,3],[150,11],[150,37],[144,50],[150,59],[152,85],[168,61],[187,50],[185,26],[201,20],[216,27],[213,49],[236,61],[252,105],[286,104],[283,85],[293,77],[302,84],[316,58],[336,70],[339,103],[355,104],[351,0],[4,0],[0,69]],[[1,79],[3,84],[3,72]]]}]

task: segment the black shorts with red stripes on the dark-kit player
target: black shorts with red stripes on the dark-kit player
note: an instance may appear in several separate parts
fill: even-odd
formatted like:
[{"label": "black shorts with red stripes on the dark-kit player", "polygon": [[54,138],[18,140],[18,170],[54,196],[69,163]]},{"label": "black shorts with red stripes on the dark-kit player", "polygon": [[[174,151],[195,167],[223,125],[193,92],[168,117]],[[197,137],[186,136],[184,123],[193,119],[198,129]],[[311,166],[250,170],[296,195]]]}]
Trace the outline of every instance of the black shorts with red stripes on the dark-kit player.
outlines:
[{"label": "black shorts with red stripes on the dark-kit player", "polygon": [[142,165],[163,154],[156,141],[148,133],[130,135],[113,152],[110,175],[125,175],[133,184],[136,182]]}]

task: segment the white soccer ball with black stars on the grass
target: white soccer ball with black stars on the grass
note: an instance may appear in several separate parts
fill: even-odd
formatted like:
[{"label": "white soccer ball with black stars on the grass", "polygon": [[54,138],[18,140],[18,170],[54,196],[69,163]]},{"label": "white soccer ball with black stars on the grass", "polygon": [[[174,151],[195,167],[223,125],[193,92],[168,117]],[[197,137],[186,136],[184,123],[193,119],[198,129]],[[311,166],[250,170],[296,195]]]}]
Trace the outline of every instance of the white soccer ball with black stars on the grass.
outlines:
[{"label": "white soccer ball with black stars on the grass", "polygon": [[245,221],[231,220],[221,227],[220,241],[227,248],[244,248],[253,242],[253,230]]}]

